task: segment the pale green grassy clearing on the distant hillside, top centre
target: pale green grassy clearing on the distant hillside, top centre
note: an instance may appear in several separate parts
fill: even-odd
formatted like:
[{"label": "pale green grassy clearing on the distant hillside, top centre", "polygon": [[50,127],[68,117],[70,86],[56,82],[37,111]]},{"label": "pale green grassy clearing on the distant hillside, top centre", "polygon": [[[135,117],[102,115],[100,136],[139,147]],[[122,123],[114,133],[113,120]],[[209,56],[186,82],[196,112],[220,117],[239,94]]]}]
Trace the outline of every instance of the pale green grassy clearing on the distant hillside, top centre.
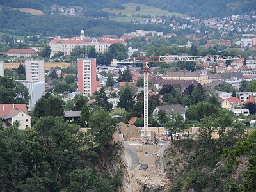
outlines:
[{"label": "pale green grassy clearing on the distant hillside, top centre", "polygon": [[[162,10],[159,8],[156,8],[154,6],[147,6],[144,4],[137,4],[137,3],[127,3],[124,4],[125,10],[116,10],[113,8],[104,8],[103,10],[108,13],[115,13],[116,15],[120,14],[127,17],[132,17],[132,15],[151,15],[151,17],[157,17],[165,15],[172,16],[177,15],[180,16],[179,13],[169,12],[167,10]],[[140,6],[140,11],[136,11],[136,7]]]}]

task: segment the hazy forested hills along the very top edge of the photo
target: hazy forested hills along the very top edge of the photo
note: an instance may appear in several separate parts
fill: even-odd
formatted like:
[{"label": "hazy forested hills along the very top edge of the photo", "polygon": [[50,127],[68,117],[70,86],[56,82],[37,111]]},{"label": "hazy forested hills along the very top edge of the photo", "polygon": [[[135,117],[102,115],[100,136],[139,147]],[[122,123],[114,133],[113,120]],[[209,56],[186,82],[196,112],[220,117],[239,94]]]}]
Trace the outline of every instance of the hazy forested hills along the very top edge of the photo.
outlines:
[{"label": "hazy forested hills along the very top edge of the photo", "polygon": [[106,7],[118,7],[123,3],[140,3],[163,8],[170,12],[184,13],[186,15],[194,15],[197,17],[225,17],[232,14],[243,14],[255,11],[256,2],[253,0],[233,1],[233,0],[79,0],[79,1],[61,1],[61,0],[22,0],[22,1],[1,1],[1,4],[17,8],[36,8],[40,10],[47,10],[51,4],[58,4],[61,6],[81,6],[85,8],[102,9]]}]

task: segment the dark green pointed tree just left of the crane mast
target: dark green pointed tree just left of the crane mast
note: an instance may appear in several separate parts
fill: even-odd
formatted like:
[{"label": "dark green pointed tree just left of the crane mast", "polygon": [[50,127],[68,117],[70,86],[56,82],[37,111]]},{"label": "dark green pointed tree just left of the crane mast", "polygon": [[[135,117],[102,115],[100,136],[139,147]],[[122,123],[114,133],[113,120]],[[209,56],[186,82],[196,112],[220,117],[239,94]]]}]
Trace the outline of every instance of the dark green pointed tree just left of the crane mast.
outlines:
[{"label": "dark green pointed tree just left of the crane mast", "polygon": [[131,90],[126,86],[120,93],[120,99],[117,102],[117,107],[124,108],[126,111],[132,109],[134,104],[132,96]]}]

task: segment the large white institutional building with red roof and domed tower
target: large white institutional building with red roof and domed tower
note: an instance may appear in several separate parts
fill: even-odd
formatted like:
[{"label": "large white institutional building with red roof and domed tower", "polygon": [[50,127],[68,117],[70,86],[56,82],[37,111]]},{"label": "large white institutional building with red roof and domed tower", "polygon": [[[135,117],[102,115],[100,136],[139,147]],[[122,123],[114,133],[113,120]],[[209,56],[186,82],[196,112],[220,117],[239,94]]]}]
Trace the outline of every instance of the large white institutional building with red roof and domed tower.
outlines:
[{"label": "large white institutional building with red roof and domed tower", "polygon": [[105,52],[108,51],[108,47],[114,43],[126,45],[126,42],[120,39],[88,38],[84,35],[84,31],[81,30],[80,36],[72,38],[54,38],[49,42],[49,45],[51,47],[51,56],[53,56],[58,51],[62,51],[64,55],[68,55],[77,45],[81,47],[93,46],[96,52]]}]

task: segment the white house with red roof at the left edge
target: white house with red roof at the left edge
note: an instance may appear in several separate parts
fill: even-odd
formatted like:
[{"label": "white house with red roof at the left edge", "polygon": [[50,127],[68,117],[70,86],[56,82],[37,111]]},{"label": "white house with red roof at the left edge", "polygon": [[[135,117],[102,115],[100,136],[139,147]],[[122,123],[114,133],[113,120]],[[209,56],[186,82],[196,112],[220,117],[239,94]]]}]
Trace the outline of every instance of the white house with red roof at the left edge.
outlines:
[{"label": "white house with red roof at the left edge", "polygon": [[19,122],[19,129],[31,127],[31,116],[28,115],[26,104],[0,104],[0,119],[4,127]]}]

